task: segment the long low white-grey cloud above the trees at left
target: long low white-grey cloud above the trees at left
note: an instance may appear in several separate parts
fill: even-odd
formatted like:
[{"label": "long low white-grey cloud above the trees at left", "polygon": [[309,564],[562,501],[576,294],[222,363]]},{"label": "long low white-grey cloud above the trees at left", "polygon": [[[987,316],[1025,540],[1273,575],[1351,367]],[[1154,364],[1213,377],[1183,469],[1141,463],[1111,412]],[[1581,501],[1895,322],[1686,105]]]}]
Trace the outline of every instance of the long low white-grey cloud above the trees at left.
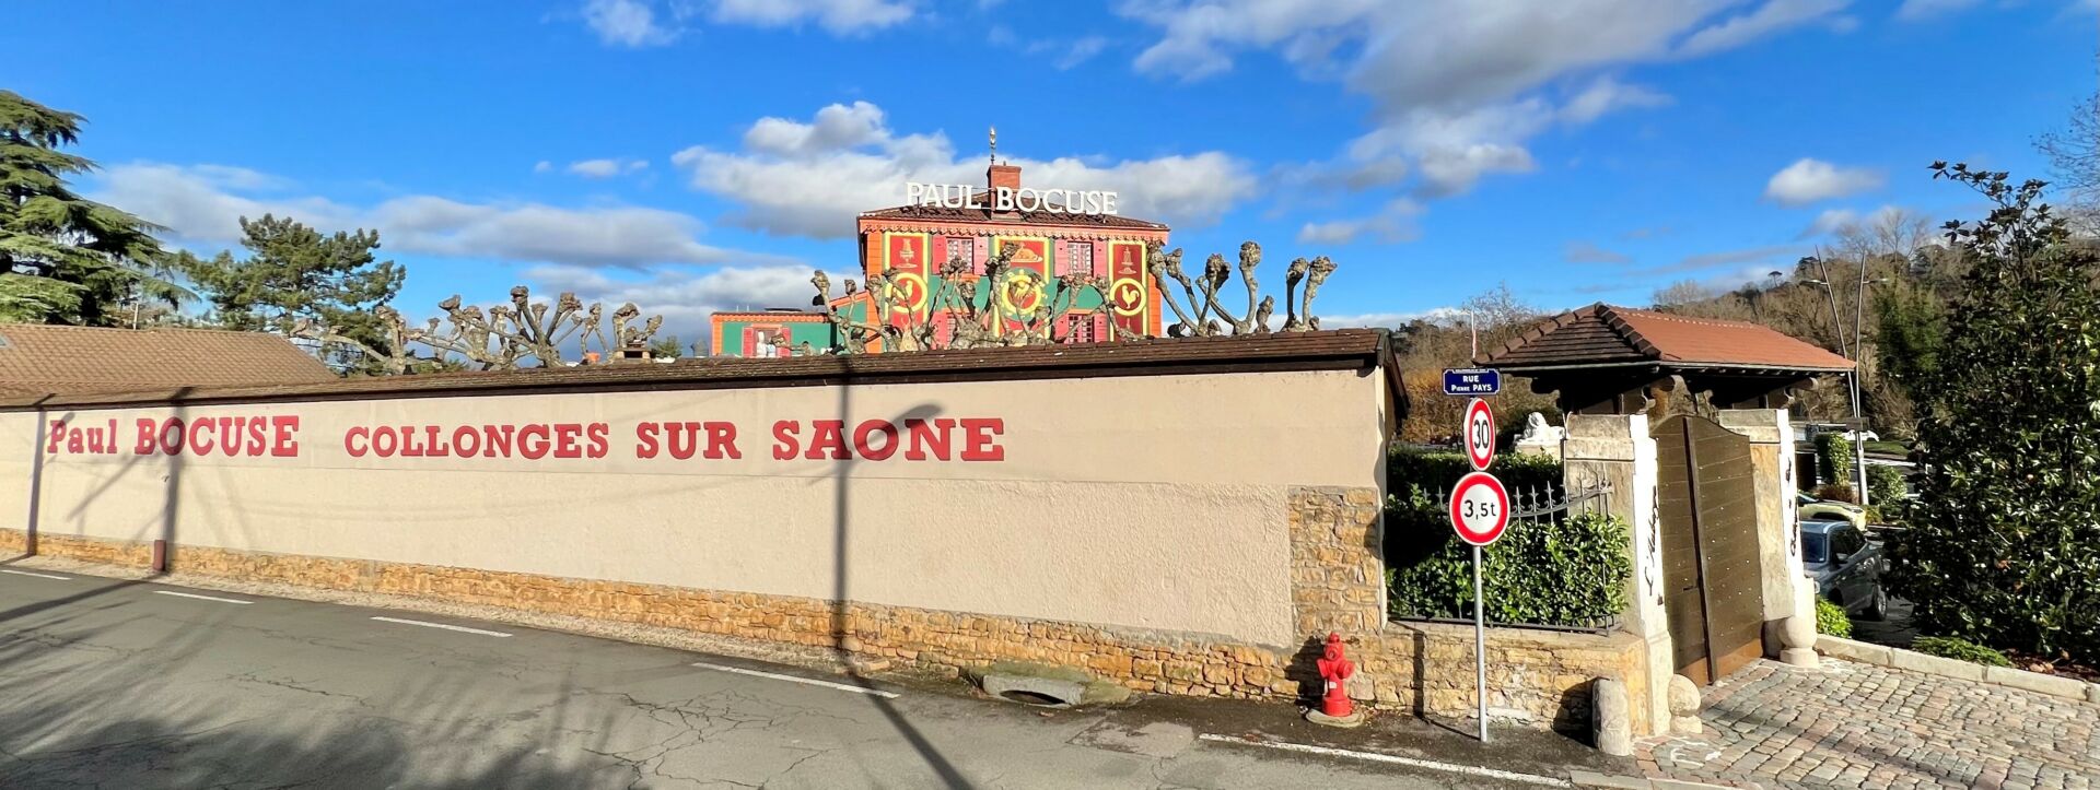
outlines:
[{"label": "long low white-grey cloud above the trees at left", "polygon": [[99,184],[97,199],[202,243],[237,243],[239,218],[277,214],[321,231],[376,228],[386,249],[426,256],[582,266],[769,260],[699,243],[706,231],[699,220],[638,205],[464,203],[410,195],[359,207],[326,197],[258,195],[231,184],[223,172],[166,163],[113,166]]}]

